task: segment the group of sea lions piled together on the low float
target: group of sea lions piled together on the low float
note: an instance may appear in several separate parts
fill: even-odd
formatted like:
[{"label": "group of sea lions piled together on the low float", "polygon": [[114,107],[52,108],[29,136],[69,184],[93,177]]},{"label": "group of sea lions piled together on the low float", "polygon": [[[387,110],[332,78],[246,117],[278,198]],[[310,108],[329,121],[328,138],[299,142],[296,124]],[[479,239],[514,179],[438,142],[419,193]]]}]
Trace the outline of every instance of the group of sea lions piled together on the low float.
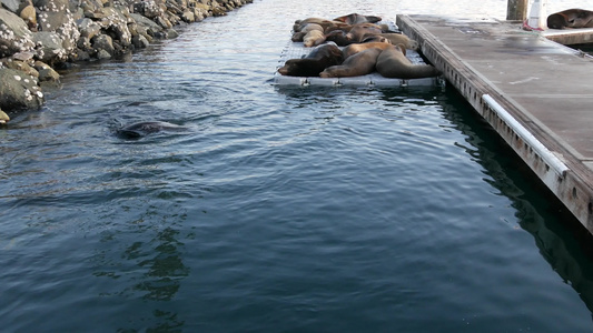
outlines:
[{"label": "group of sea lions piled together on the low float", "polygon": [[278,72],[289,77],[347,78],[377,71],[391,79],[439,74],[431,64],[413,64],[406,58],[406,49],[417,50],[418,43],[385,24],[377,24],[379,21],[379,17],[358,13],[333,20],[295,21],[293,41],[315,48],[304,58],[287,60]]}]

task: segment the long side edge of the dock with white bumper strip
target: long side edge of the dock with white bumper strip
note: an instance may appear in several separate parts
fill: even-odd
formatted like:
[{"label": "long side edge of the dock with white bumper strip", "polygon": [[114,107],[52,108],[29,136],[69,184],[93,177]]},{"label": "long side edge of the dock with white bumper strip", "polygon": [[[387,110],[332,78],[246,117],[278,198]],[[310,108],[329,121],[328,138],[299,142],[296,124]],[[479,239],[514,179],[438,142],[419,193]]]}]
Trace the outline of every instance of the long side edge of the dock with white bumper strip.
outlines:
[{"label": "long side edge of the dock with white bumper strip", "polygon": [[536,139],[532,133],[543,132],[536,122],[413,18],[397,16],[396,23],[405,34],[419,43],[424,57],[593,234],[591,171],[582,163],[576,163],[571,152],[552,135]]}]

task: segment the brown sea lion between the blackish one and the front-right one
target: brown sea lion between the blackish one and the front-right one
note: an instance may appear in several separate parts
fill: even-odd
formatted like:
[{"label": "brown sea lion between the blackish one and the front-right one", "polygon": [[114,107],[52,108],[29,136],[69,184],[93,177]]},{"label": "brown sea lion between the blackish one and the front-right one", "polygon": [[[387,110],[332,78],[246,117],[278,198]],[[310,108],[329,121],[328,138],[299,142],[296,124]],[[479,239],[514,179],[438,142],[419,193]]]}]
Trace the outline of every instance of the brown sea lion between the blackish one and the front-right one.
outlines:
[{"label": "brown sea lion between the blackish one and the front-right one", "polygon": [[346,59],[343,64],[326,68],[319,77],[348,78],[369,74],[375,71],[375,63],[382,51],[382,49],[372,48],[358,52]]}]

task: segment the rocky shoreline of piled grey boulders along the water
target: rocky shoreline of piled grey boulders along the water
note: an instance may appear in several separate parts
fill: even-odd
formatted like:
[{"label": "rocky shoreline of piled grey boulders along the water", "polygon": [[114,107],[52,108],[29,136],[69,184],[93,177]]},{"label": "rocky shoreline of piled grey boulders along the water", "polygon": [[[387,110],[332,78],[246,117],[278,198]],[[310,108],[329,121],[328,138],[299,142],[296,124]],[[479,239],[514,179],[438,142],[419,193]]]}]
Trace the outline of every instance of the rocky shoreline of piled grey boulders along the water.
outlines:
[{"label": "rocky shoreline of piled grey boulders along the water", "polygon": [[[57,69],[120,58],[176,27],[225,16],[253,0],[0,0],[0,123],[39,108]],[[2,111],[3,110],[3,111]]]}]

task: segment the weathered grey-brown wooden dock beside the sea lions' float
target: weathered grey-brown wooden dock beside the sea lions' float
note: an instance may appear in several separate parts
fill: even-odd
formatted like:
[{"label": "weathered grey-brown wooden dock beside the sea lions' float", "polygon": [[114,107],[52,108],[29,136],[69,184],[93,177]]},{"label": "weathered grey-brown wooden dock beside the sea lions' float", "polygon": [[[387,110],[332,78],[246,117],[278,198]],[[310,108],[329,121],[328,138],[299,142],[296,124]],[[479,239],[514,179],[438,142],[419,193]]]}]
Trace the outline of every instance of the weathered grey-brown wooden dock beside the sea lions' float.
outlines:
[{"label": "weathered grey-brown wooden dock beside the sea lions' float", "polygon": [[397,26],[593,233],[593,59],[517,22]]}]

